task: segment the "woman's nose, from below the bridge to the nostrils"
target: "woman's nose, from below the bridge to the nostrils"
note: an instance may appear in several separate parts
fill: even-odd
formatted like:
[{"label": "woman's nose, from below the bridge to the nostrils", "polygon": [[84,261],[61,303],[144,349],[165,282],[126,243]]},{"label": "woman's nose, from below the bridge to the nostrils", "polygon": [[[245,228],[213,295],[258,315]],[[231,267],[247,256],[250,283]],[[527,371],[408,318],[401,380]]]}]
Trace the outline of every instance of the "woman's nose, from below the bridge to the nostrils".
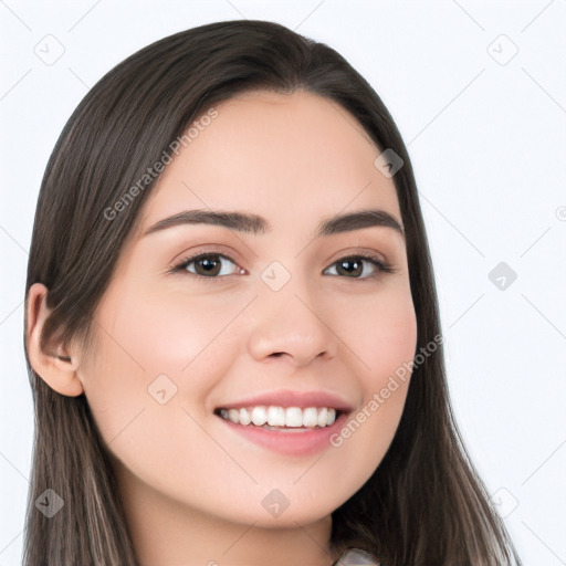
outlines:
[{"label": "woman's nose, from below the bridge to the nostrils", "polygon": [[264,289],[254,303],[249,350],[253,359],[287,358],[304,366],[315,358],[336,356],[338,336],[325,319],[322,302],[313,304],[305,285],[286,285],[280,291]]}]

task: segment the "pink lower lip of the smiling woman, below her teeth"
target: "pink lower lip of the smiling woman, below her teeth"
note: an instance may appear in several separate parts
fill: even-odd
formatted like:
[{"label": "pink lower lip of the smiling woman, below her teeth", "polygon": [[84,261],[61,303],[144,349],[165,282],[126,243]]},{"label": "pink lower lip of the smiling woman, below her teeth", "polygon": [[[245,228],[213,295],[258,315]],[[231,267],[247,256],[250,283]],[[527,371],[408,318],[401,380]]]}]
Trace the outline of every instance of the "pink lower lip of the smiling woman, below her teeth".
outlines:
[{"label": "pink lower lip of the smiling woman, below her teeth", "polygon": [[269,430],[253,424],[238,424],[222,417],[218,418],[233,431],[263,448],[286,455],[312,455],[332,447],[331,437],[343,428],[347,413],[340,413],[329,427],[304,430],[291,429],[291,431]]}]

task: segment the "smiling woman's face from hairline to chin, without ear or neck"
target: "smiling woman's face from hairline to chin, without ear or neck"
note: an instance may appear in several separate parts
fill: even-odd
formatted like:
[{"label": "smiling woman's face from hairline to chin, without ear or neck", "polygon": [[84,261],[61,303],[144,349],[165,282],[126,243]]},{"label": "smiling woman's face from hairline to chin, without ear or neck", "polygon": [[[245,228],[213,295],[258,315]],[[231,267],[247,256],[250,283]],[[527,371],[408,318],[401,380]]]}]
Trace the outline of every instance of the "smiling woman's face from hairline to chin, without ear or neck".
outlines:
[{"label": "smiling woman's face from hairline to chin, without ear or neck", "polygon": [[[381,210],[400,224],[399,205],[392,179],[374,165],[380,151],[334,103],[247,93],[216,111],[197,120],[144,205],[78,376],[139,505],[166,501],[256,526],[306,524],[368,480],[402,412],[408,380],[396,378],[394,389],[390,378],[412,360],[417,340],[403,235],[368,221],[336,223]],[[255,221],[186,218],[149,230],[195,210]],[[232,409],[245,422],[239,409],[254,406],[276,407],[271,422],[286,418],[290,427],[218,415]],[[334,424],[324,408],[339,409]]]}]

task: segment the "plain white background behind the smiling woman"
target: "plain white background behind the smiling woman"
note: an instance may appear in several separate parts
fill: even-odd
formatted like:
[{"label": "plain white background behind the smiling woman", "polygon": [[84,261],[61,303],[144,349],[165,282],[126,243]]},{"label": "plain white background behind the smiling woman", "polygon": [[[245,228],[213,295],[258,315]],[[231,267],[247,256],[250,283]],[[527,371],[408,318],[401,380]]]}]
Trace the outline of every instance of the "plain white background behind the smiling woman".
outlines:
[{"label": "plain white background behind the smiling woman", "polygon": [[[566,1],[0,0],[0,566],[22,548],[23,291],[49,155],[116,63],[240,18],[333,46],[391,112],[417,176],[464,440],[524,564],[566,564]],[[50,41],[55,53],[48,34],[64,48],[51,65],[34,52]],[[500,262],[517,274],[504,290],[489,279]]]}]

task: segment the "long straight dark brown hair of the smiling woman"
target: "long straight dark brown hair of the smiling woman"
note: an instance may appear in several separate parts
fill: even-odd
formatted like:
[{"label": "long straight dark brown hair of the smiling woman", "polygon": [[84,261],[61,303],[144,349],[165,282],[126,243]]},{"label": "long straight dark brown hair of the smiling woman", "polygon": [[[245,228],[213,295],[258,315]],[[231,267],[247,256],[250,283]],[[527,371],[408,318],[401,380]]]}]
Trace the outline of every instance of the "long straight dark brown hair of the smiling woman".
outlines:
[{"label": "long straight dark brown hair of the smiling woman", "polygon": [[[94,310],[155,180],[119,214],[109,219],[108,210],[191,122],[254,90],[326,97],[349,111],[381,151],[400,156],[403,166],[394,181],[406,227],[417,349],[441,334],[416,181],[391,115],[333,49],[276,23],[241,20],[193,28],[142,49],[109,71],[69,119],[41,185],[28,266],[27,294],[36,282],[49,290],[43,344],[88,339]],[[35,436],[23,564],[136,565],[108,453],[85,396],[55,392],[33,371],[27,349],[25,358]],[[34,504],[46,489],[65,502],[51,518]],[[441,345],[415,367],[379,467],[333,513],[331,543],[334,553],[353,546],[391,566],[521,564],[454,422]]]}]

